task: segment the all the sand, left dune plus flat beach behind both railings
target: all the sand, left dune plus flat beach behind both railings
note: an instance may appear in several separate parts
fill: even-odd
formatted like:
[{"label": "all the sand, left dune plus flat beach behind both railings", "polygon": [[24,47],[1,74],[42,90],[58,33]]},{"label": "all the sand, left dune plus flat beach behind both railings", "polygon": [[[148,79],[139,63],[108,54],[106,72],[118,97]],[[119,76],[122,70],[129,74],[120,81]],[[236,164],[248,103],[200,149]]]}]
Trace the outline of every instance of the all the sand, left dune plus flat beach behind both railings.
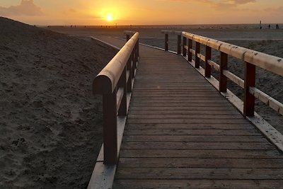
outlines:
[{"label": "all the sand, left dune plus flat beach behind both railings", "polygon": [[[0,188],[87,187],[102,141],[101,98],[91,84],[117,52],[88,36],[137,30],[140,42],[163,48],[162,29],[186,30],[283,57],[283,30],[275,29],[37,28],[1,17],[0,28]],[[229,70],[243,77],[243,62],[229,59]],[[258,69],[256,82],[283,102],[282,76]],[[242,98],[241,88],[229,88]],[[281,115],[258,101],[256,111],[283,133]]]}]

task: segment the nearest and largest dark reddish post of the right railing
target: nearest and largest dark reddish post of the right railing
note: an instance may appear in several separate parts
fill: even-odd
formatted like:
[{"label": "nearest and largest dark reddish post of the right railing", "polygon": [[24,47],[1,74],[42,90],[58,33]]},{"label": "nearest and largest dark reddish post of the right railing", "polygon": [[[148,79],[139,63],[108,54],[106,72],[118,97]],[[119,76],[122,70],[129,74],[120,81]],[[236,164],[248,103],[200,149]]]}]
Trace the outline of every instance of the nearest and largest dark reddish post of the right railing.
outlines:
[{"label": "nearest and largest dark reddish post of the right railing", "polygon": [[244,116],[255,115],[255,96],[249,92],[249,88],[253,86],[255,86],[255,65],[245,62]]}]

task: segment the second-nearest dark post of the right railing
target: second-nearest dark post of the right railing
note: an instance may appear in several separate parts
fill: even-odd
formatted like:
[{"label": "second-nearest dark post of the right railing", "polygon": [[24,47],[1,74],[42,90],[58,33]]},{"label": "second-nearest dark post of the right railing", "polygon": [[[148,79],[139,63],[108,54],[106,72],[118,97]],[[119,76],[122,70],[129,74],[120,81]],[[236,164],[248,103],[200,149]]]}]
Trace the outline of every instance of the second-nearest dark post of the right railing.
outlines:
[{"label": "second-nearest dark post of the right railing", "polygon": [[227,91],[227,77],[224,76],[223,71],[227,69],[228,55],[225,52],[220,52],[220,70],[219,70],[219,91]]}]

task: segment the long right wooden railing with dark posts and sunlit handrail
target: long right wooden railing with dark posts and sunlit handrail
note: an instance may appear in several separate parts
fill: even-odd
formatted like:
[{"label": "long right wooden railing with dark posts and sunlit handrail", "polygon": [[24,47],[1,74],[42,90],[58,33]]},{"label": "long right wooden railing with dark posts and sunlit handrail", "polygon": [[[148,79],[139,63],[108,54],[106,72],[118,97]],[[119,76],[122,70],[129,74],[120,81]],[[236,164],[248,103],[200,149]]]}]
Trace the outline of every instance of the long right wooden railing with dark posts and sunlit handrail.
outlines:
[{"label": "long right wooden railing with dark posts and sunlit handrail", "polygon": [[[165,34],[165,50],[168,51],[168,35],[177,35],[177,54],[181,54],[183,49],[183,57],[187,57],[188,62],[192,62],[192,55],[195,55],[195,68],[200,68],[200,61],[205,62],[204,76],[211,76],[212,67],[219,71],[219,91],[227,91],[227,79],[230,79],[238,86],[244,89],[243,99],[243,115],[253,116],[255,113],[255,98],[258,98],[270,108],[283,115],[283,105],[274,98],[263,93],[255,87],[255,67],[260,67],[272,73],[283,76],[283,59],[272,55],[267,55],[262,52],[256,52],[236,45],[231,45],[226,42],[204,38],[200,35],[192,33],[162,30]],[[183,43],[182,43],[183,37]],[[195,42],[195,49],[192,48],[192,43]],[[205,55],[200,53],[200,46],[204,45]],[[220,62],[217,64],[212,60],[212,49],[220,52]],[[239,78],[227,70],[228,56],[236,57],[243,60],[245,64],[244,79]]]}]

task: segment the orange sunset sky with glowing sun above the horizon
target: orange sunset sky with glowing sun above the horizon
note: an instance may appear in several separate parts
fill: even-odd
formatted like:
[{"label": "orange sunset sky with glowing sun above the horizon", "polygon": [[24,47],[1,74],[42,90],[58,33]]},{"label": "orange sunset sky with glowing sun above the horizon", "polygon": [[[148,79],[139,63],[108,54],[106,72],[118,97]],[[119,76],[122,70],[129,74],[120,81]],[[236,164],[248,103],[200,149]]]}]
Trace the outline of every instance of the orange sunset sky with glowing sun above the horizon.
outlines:
[{"label": "orange sunset sky with glowing sun above the horizon", "polygon": [[283,23],[283,0],[0,0],[31,25]]}]

